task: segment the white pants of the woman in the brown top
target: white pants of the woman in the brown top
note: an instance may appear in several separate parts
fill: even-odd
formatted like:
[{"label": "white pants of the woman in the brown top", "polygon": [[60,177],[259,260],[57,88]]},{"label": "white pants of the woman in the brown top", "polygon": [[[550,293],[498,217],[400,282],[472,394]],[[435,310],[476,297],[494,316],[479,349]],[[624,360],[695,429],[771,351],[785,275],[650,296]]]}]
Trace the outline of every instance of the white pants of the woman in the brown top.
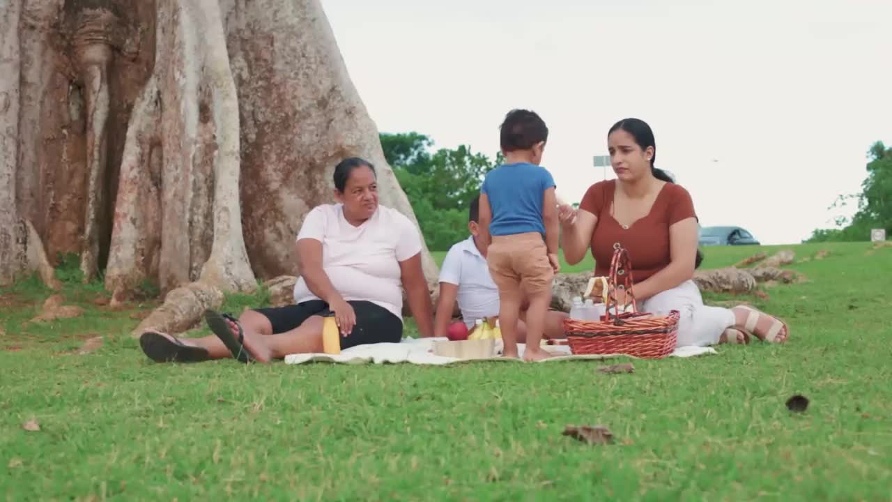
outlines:
[{"label": "white pants of the woman in the brown top", "polygon": [[724,330],[736,323],[731,310],[703,305],[700,289],[693,280],[685,280],[676,288],[649,297],[638,308],[653,314],[669,314],[671,310],[681,314],[676,347],[717,345]]}]

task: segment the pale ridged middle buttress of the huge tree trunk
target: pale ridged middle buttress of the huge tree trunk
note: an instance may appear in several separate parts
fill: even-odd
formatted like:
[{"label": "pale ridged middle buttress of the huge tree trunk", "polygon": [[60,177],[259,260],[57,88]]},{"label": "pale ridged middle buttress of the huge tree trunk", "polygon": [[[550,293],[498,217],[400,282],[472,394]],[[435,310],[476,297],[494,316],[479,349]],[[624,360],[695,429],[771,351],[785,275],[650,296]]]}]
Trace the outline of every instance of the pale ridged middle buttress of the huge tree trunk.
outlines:
[{"label": "pale ridged middle buttress of the huge tree trunk", "polygon": [[[252,291],[239,211],[239,121],[219,5],[159,0],[152,78],[121,163],[105,285],[163,292],[200,280]],[[138,217],[134,218],[136,214]]]}]

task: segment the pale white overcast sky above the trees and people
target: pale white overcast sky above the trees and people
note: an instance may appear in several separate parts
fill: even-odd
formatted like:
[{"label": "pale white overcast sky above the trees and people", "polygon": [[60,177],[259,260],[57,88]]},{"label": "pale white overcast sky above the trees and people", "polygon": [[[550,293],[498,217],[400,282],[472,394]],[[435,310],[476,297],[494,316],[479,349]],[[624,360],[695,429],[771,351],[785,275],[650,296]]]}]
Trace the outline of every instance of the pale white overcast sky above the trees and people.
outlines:
[{"label": "pale white overcast sky above the trees and people", "polygon": [[322,4],[379,130],[494,155],[504,114],[533,109],[568,201],[604,178],[610,126],[638,117],[702,225],[797,243],[832,226],[871,143],[892,144],[892,0]]}]

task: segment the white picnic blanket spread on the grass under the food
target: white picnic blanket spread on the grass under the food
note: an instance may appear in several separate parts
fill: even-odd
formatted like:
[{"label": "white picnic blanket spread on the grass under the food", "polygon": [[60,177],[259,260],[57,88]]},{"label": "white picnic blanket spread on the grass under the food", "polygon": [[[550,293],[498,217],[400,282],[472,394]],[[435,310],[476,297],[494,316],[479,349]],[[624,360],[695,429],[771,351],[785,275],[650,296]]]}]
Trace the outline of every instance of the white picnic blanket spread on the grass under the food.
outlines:
[{"label": "white picnic blanket spread on the grass under the food", "polygon": [[[505,363],[523,363],[522,359],[508,359],[505,357],[491,357],[487,359],[457,359],[455,357],[434,356],[434,341],[445,338],[429,339],[402,339],[400,343],[375,343],[346,348],[341,354],[291,354],[285,356],[285,364],[304,363],[340,363],[340,364],[465,364],[481,361],[498,361]],[[500,341],[500,340],[499,340]],[[524,344],[517,344],[520,356],[524,356]],[[622,354],[574,356],[567,346],[545,347],[551,353],[558,356],[543,359],[541,363],[554,363],[558,361],[585,361],[602,360],[613,357],[631,357]],[[704,356],[718,354],[713,347],[678,347],[673,352],[673,357]]]}]

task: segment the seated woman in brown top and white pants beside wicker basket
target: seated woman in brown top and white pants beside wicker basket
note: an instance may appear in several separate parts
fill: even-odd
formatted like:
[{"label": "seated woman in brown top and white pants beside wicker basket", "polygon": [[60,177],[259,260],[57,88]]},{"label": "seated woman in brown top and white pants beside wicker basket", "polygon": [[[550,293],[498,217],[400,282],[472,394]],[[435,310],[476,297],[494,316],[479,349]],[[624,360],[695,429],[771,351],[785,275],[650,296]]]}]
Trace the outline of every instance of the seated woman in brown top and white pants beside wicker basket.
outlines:
[{"label": "seated woman in brown top and white pants beside wicker basket", "polygon": [[[607,275],[615,247],[625,247],[639,310],[681,313],[679,347],[748,343],[753,336],[784,342],[789,329],[779,319],[742,305],[703,305],[692,280],[701,259],[697,213],[688,191],[654,167],[657,146],[648,124],[638,119],[617,122],[607,134],[607,145],[616,180],[592,185],[578,210],[560,207],[567,263],[578,264],[591,247],[595,275]],[[626,298],[617,292],[620,304]]]}]

